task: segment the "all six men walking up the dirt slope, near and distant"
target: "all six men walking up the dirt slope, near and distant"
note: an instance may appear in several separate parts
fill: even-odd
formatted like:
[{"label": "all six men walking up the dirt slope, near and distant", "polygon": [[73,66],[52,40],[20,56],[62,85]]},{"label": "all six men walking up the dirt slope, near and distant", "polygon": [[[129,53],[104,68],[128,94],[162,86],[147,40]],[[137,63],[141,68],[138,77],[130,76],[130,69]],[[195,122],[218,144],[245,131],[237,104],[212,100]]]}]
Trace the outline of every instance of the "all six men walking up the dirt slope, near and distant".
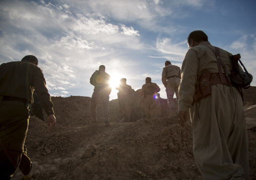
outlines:
[{"label": "all six men walking up the dirt slope, near and distant", "polygon": [[[189,110],[193,126],[193,151],[204,179],[249,180],[248,142],[242,97],[230,81],[232,54],[214,47],[203,31],[191,32],[182,68],[165,62],[162,83],[166,88],[170,116],[185,126]],[[24,145],[29,123],[29,104],[36,90],[48,115],[50,129],[56,124],[53,104],[35,56],[0,65],[0,176],[10,179],[17,168],[30,178],[37,162],[31,162]],[[222,73],[223,72],[223,73]],[[90,78],[92,123],[97,123],[97,104],[102,102],[105,125],[109,125],[110,76],[101,65]],[[118,112],[130,122],[133,104],[139,97],[146,117],[161,117],[160,91],[147,77],[139,94],[120,80]],[[207,93],[206,93],[207,92]],[[173,99],[176,94],[178,108]],[[178,113],[177,113],[178,111]]]}]

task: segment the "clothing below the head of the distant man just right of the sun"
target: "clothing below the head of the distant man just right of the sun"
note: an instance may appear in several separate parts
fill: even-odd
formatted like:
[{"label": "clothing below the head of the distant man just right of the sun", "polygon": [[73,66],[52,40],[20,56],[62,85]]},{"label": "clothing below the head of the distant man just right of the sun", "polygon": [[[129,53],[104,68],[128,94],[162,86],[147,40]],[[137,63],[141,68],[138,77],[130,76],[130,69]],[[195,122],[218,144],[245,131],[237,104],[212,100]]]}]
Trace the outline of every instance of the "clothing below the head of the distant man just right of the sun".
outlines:
[{"label": "clothing below the head of the distant man just right of the sun", "polygon": [[125,122],[130,122],[130,113],[134,101],[134,92],[130,85],[119,84],[118,92],[118,117],[124,116]]}]

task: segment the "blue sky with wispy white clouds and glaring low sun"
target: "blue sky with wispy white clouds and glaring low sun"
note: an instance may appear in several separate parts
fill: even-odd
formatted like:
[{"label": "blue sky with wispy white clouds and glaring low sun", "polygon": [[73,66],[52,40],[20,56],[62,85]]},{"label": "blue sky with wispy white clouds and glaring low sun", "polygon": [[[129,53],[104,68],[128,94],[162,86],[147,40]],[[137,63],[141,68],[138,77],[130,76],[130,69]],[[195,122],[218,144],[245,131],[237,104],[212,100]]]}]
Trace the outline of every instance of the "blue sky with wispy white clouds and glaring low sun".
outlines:
[{"label": "blue sky with wispy white clouds and glaring low sun", "polygon": [[[190,32],[240,54],[256,86],[254,0],[0,0],[0,64],[34,55],[51,96],[91,97],[90,77],[105,65],[110,99],[121,78],[137,90],[160,87],[164,62],[181,68]],[[175,96],[174,96],[175,97]]]}]

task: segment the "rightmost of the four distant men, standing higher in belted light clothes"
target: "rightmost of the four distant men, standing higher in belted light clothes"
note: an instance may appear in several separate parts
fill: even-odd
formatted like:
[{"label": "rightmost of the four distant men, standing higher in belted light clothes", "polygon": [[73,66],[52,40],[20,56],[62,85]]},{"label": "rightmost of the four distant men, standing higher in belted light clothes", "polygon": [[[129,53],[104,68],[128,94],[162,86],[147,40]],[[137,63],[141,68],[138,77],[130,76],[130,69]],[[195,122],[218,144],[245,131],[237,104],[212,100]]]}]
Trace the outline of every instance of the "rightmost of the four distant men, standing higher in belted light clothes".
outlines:
[{"label": "rightmost of the four distant men, standing higher in belted light clothes", "polygon": [[178,108],[176,108],[176,103],[173,99],[174,93],[176,94],[176,100],[179,99],[178,88],[180,84],[180,68],[178,66],[172,65],[170,61],[165,61],[164,68],[162,72],[162,82],[165,87],[167,95],[167,103],[170,110],[170,117],[176,116]]}]

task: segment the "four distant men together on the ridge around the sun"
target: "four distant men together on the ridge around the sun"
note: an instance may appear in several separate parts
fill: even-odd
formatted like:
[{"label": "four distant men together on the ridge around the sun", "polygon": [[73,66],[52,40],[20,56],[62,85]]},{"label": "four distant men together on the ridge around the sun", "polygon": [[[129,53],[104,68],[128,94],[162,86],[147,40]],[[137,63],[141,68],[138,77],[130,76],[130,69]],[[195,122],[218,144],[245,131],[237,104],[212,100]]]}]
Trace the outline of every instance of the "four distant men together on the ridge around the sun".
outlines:
[{"label": "four distant men together on the ridge around the sun", "polygon": [[[165,67],[162,72],[162,82],[166,88],[167,103],[170,109],[170,116],[177,117],[177,107],[173,98],[174,93],[178,100],[178,87],[180,84],[180,68],[175,65],[171,65],[170,61],[165,62]],[[111,87],[109,86],[110,76],[105,72],[105,66],[101,65],[99,70],[96,70],[91,78],[90,83],[94,86],[94,92],[91,100],[91,113],[92,122],[97,123],[96,107],[97,103],[101,99],[104,113],[104,121],[106,125],[109,125],[109,94]],[[145,79],[145,84],[142,86],[139,97],[135,98],[134,90],[130,85],[126,84],[126,79],[121,78],[120,84],[116,87],[119,92],[117,93],[117,117],[119,119],[124,118],[125,122],[130,122],[130,115],[133,104],[138,101],[143,112],[148,119],[153,117],[161,117],[161,103],[159,99],[160,88],[156,83],[151,82],[151,78]]]}]

